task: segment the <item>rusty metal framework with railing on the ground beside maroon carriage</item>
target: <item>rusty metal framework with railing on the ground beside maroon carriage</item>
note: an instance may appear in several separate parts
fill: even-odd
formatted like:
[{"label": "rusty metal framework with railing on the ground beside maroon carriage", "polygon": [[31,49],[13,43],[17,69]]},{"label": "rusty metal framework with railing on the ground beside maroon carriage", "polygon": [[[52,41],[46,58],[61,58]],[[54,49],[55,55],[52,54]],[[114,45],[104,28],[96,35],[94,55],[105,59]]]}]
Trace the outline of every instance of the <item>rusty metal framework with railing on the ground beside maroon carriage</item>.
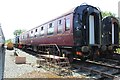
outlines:
[{"label": "rusty metal framework with railing on the ground beside maroon carriage", "polygon": [[[68,58],[60,56],[61,52],[59,47],[56,44],[43,44],[43,45],[41,44],[40,47],[41,49],[42,47],[44,47],[47,50],[48,48],[55,48],[56,51],[53,51],[53,52],[57,52],[57,54],[59,54],[57,56],[55,55],[56,53],[49,54],[49,52],[45,52],[47,54],[39,54],[39,59],[40,59],[39,65],[41,67],[60,76],[72,75],[72,72],[70,70],[71,66]],[[44,49],[44,51],[46,49]]]}]

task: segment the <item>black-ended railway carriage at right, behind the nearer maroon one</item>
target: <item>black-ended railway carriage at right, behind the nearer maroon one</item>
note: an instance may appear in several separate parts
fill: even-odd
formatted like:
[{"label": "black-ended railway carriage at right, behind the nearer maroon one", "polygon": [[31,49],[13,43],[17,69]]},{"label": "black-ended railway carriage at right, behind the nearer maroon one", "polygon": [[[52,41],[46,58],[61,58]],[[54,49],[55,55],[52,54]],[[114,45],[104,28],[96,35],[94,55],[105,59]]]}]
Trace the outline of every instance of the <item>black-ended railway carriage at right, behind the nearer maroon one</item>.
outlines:
[{"label": "black-ended railway carriage at right, behind the nearer maroon one", "polygon": [[[107,16],[102,20],[102,45],[106,46],[103,53],[107,53],[106,57],[110,57],[111,53],[119,47],[119,21],[114,16]],[[112,56],[112,55],[111,55]]]}]

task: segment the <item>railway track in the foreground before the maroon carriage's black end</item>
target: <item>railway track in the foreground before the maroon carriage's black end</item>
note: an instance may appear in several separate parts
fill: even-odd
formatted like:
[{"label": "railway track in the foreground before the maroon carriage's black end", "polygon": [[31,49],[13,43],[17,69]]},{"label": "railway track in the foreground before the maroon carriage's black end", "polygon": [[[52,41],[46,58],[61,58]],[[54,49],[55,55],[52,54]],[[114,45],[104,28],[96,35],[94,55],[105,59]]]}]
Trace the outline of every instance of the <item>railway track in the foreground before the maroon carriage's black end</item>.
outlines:
[{"label": "railway track in the foreground before the maroon carriage's black end", "polygon": [[76,61],[72,64],[72,70],[78,75],[84,75],[97,80],[113,80],[120,76],[120,66],[110,66],[108,64],[89,60],[86,62]]}]

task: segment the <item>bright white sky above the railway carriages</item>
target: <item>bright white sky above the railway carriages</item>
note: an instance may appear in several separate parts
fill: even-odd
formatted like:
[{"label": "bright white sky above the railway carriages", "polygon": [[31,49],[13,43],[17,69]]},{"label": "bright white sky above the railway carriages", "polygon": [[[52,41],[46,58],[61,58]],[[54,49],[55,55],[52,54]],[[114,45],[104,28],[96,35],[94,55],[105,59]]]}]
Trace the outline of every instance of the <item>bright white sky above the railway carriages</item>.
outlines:
[{"label": "bright white sky above the railway carriages", "polygon": [[118,16],[120,0],[0,0],[0,24],[5,39],[14,38],[18,29],[30,30],[87,3]]}]

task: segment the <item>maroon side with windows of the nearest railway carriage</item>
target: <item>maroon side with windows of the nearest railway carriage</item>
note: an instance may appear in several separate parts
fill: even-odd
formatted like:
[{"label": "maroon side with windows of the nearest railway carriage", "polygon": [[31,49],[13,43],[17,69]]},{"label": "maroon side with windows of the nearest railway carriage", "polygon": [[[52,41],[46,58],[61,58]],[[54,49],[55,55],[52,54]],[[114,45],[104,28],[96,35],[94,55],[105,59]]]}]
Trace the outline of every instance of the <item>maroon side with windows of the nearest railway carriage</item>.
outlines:
[{"label": "maroon side with windows of the nearest railway carriage", "polygon": [[[20,36],[24,45],[57,44],[58,46],[73,46],[73,13],[51,20],[31,29]],[[53,26],[53,29],[49,28]],[[42,30],[42,28],[44,28]]]}]

